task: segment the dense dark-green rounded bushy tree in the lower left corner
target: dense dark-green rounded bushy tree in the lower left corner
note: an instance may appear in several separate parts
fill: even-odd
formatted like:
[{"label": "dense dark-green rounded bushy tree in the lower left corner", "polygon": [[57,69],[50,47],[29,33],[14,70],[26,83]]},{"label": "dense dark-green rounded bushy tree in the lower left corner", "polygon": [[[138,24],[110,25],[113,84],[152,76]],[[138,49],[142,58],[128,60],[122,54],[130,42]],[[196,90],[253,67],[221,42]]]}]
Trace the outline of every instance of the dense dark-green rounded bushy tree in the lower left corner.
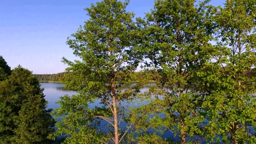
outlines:
[{"label": "dense dark-green rounded bushy tree in the lower left corner", "polygon": [[20,65],[0,82],[0,143],[49,144],[55,124],[46,110],[43,89],[32,72]]}]

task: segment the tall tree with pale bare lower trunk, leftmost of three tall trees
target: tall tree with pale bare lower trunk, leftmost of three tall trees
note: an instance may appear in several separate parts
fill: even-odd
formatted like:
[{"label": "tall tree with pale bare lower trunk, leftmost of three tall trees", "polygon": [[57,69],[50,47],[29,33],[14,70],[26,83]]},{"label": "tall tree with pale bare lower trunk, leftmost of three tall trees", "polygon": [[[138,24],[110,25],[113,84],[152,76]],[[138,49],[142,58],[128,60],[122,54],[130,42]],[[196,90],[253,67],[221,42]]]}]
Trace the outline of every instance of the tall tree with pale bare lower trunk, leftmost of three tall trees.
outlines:
[{"label": "tall tree with pale bare lower trunk, leftmost of three tall trees", "polygon": [[[71,62],[62,82],[78,95],[66,95],[53,115],[57,135],[70,135],[69,144],[127,143],[127,130],[120,129],[125,111],[138,95],[141,85],[132,86],[140,59],[134,58],[134,13],[125,9],[129,0],[102,0],[86,8],[89,20],[67,44],[81,60]],[[93,103],[102,107],[92,107]],[[105,124],[105,125],[104,125]],[[104,126],[105,128],[100,128]],[[104,131],[108,129],[108,131]]]}]

